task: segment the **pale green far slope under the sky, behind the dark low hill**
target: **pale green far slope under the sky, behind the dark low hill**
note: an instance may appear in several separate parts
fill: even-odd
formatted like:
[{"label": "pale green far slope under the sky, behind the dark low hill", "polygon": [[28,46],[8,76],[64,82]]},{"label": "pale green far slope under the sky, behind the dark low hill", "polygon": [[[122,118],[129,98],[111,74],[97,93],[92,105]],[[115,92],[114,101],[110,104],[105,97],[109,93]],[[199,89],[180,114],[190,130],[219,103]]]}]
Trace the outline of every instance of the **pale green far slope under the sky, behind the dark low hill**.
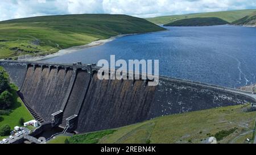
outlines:
[{"label": "pale green far slope under the sky, behind the dark low hill", "polygon": [[155,18],[146,18],[148,21],[156,24],[167,24],[174,22],[175,20],[181,20],[185,18],[207,18],[217,17],[225,20],[226,22],[234,22],[235,20],[241,19],[246,15],[251,14],[254,10],[234,10],[234,11],[220,11],[220,12],[204,12],[198,14],[186,14],[186,15],[170,15],[170,16],[158,16]]}]

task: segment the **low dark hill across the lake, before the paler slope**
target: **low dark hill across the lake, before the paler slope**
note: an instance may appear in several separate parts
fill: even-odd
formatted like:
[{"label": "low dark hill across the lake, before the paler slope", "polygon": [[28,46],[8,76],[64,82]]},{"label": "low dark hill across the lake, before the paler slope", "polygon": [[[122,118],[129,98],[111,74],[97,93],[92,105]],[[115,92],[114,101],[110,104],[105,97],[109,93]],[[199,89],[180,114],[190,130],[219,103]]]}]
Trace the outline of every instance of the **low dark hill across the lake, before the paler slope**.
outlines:
[{"label": "low dark hill across the lake, before the paler slope", "polygon": [[228,24],[225,20],[216,17],[210,18],[188,18],[176,20],[164,26],[216,26]]}]

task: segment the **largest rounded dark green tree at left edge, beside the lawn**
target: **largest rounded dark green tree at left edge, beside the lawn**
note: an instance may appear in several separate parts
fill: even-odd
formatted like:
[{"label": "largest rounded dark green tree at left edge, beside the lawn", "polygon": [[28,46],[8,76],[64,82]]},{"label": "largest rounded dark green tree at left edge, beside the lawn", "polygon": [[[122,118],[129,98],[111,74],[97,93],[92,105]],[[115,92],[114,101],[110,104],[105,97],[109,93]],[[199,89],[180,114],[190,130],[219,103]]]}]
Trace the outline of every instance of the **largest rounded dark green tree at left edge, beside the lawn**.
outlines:
[{"label": "largest rounded dark green tree at left edge, beside the lawn", "polygon": [[3,91],[0,95],[0,109],[6,110],[11,107],[11,104],[13,103],[13,94],[11,94],[9,91]]}]

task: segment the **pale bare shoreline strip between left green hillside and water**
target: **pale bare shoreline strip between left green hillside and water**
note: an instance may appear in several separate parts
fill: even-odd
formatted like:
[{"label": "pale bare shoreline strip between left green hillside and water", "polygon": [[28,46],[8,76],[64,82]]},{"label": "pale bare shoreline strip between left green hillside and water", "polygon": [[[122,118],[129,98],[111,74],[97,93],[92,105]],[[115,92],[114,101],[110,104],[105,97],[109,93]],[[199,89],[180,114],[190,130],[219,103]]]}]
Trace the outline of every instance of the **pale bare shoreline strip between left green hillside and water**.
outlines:
[{"label": "pale bare shoreline strip between left green hillside and water", "polygon": [[137,35],[137,34],[138,33],[131,33],[131,34],[125,34],[125,35],[112,36],[112,37],[109,37],[108,39],[101,39],[101,40],[92,41],[89,44],[79,45],[79,46],[75,46],[75,47],[69,47],[69,48],[65,48],[65,49],[60,49],[58,52],[52,53],[50,55],[22,58],[22,59],[19,59],[19,60],[23,60],[23,61],[46,60],[48,58],[62,56],[62,55],[66,55],[66,54],[69,54],[69,53],[73,53],[73,52],[78,51],[79,49],[85,49],[85,48],[90,48],[90,47],[96,47],[96,46],[104,45],[105,43],[113,41],[113,40],[117,39],[118,37],[129,36],[129,35]]}]

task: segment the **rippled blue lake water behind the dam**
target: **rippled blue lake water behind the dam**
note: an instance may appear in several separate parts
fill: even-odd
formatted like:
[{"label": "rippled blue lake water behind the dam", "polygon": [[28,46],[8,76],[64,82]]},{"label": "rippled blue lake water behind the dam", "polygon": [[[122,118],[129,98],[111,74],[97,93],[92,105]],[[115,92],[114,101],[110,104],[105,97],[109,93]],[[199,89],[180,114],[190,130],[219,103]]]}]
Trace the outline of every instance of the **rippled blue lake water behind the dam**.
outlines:
[{"label": "rippled blue lake water behind the dam", "polygon": [[159,59],[163,76],[239,87],[256,83],[256,28],[166,27],[44,61],[84,64],[100,59]]}]

